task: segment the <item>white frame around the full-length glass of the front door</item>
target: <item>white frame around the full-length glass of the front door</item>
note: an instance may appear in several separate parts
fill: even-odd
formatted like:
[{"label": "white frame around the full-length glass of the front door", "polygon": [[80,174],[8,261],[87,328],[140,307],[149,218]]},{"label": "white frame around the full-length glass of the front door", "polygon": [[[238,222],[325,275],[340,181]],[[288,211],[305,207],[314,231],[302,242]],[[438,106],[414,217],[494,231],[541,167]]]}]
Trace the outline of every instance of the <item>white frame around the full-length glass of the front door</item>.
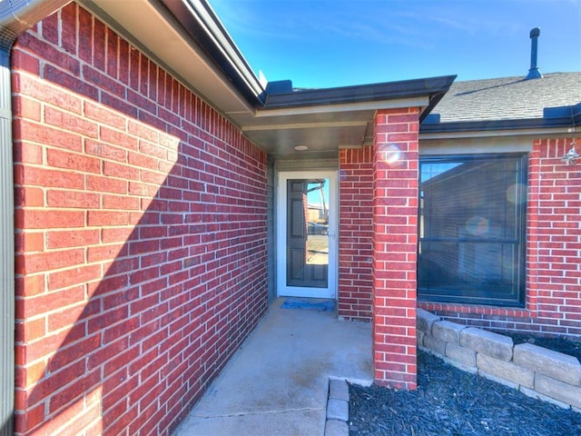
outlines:
[{"label": "white frame around the full-length glass of the front door", "polygon": [[[337,171],[284,171],[277,176],[277,232],[276,232],[276,272],[277,272],[277,296],[291,296],[302,298],[337,298],[337,284],[339,272],[339,252],[338,252],[338,233],[339,233],[339,195]],[[287,246],[286,246],[286,227],[287,227],[287,181],[291,179],[329,179],[329,268],[328,268],[328,285],[327,288],[310,288],[299,286],[287,286]]]}]

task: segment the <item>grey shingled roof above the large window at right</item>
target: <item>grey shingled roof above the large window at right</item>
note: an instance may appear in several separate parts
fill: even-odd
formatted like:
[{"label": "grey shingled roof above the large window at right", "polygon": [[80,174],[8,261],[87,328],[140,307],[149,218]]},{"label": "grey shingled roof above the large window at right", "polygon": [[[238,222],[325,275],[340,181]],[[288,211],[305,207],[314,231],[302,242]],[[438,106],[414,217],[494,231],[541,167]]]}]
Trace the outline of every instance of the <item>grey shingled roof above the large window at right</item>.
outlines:
[{"label": "grey shingled roof above the large window at right", "polygon": [[552,73],[533,80],[520,76],[456,82],[422,127],[456,130],[463,124],[484,123],[498,128],[536,121],[555,125],[557,119],[570,125],[575,117],[581,117],[581,72]]}]

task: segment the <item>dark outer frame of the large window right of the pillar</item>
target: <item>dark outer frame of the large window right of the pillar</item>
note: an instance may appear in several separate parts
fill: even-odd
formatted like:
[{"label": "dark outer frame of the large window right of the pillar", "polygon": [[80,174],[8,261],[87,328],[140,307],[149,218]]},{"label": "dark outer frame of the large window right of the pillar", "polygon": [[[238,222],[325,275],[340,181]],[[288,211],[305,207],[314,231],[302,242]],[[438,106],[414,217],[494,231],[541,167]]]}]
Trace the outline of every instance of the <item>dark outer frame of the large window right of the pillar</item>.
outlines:
[{"label": "dark outer frame of the large window right of the pillar", "polygon": [[[469,163],[469,162],[492,162],[494,160],[510,160],[516,163],[516,185],[517,185],[517,202],[515,205],[516,219],[516,241],[517,245],[517,262],[518,271],[513,272],[512,286],[516,292],[511,292],[511,298],[500,298],[498,296],[489,296],[486,290],[452,290],[446,287],[434,286],[428,291],[428,287],[420,286],[420,247],[422,243],[430,241],[430,238],[422,237],[422,223],[424,220],[423,208],[423,190],[422,190],[422,166],[428,163]],[[505,153],[505,154],[430,154],[419,156],[419,201],[418,201],[418,263],[417,263],[417,292],[419,302],[443,302],[458,304],[478,304],[502,307],[525,307],[526,305],[526,278],[527,278],[527,191],[528,191],[528,154],[526,153]],[[435,241],[437,238],[431,238]],[[450,240],[453,241],[453,238]],[[460,236],[456,237],[456,242],[463,241]],[[505,243],[504,241],[497,241]],[[459,256],[458,256],[459,259]],[[422,292],[423,290],[423,292]],[[516,293],[516,296],[514,295]]]}]

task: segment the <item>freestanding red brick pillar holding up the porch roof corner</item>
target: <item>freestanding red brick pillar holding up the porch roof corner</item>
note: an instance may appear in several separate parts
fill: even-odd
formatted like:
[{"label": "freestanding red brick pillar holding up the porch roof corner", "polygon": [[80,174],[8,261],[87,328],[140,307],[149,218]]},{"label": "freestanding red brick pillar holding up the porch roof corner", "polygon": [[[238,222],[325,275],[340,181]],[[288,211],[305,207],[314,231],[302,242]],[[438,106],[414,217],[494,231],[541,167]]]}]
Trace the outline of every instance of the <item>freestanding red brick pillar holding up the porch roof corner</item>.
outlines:
[{"label": "freestanding red brick pillar holding up the porch roof corner", "polygon": [[417,387],[419,109],[379,111],[373,145],[373,369],[382,386]]}]

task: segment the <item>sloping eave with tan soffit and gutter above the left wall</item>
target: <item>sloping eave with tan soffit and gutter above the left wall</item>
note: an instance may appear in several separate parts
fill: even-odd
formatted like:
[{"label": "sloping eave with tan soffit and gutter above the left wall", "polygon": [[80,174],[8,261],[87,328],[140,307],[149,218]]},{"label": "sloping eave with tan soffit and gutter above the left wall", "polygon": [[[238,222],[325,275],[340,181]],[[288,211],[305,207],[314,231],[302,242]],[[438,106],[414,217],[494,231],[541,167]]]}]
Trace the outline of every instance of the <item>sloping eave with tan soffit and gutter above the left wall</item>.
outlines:
[{"label": "sloping eave with tan soffit and gutter above the left wall", "polygon": [[206,2],[79,0],[223,114],[252,113],[264,92]]}]

